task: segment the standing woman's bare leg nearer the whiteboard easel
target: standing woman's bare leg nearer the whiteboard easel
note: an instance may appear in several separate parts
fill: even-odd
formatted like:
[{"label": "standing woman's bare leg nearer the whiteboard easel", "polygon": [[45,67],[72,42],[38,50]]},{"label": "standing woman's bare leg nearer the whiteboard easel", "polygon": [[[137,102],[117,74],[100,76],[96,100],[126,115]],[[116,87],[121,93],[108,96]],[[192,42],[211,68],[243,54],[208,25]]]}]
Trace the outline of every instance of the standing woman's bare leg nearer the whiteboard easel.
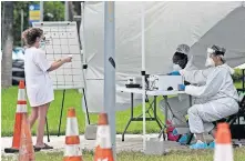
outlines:
[{"label": "standing woman's bare leg nearer the whiteboard easel", "polygon": [[49,109],[50,103],[43,104],[39,107],[39,124],[38,124],[38,132],[37,132],[37,144],[35,147],[42,148],[43,143],[43,135],[44,135],[44,127],[45,127],[45,117]]}]

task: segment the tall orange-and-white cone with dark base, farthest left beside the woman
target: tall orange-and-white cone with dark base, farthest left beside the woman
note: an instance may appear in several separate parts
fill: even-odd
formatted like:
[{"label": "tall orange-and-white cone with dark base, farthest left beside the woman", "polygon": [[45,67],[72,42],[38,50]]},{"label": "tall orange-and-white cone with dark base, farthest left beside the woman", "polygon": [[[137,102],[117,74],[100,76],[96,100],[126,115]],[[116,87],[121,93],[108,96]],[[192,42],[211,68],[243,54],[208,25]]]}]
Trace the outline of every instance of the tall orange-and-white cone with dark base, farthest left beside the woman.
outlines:
[{"label": "tall orange-and-white cone with dark base, farthest left beside the woman", "polygon": [[17,102],[17,112],[16,112],[16,122],[13,129],[13,139],[12,139],[12,148],[7,148],[4,151],[7,153],[19,152],[20,148],[20,135],[21,135],[21,121],[23,119],[23,114],[27,114],[27,100],[25,100],[25,90],[24,90],[24,81],[19,82],[19,91],[18,91],[18,102]]}]

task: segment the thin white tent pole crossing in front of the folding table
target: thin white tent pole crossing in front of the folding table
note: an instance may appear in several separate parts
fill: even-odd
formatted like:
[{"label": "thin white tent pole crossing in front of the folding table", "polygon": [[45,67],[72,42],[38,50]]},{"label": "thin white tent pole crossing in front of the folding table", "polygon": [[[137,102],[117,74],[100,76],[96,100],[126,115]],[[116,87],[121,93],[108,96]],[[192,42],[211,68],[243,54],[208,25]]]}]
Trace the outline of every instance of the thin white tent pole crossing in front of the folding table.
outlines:
[{"label": "thin white tent pole crossing in front of the folding table", "polygon": [[141,39],[141,52],[142,52],[142,112],[143,112],[143,151],[145,151],[145,47],[144,47],[144,2],[142,2],[142,17],[141,17],[141,32],[142,32],[142,39]]}]

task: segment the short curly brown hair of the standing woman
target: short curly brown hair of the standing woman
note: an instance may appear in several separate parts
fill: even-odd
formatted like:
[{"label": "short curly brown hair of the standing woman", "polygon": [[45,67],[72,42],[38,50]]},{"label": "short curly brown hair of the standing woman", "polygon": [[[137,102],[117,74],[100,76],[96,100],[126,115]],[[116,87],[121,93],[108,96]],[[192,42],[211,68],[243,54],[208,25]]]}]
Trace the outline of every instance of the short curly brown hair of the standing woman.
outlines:
[{"label": "short curly brown hair of the standing woman", "polygon": [[32,46],[37,41],[37,38],[41,38],[43,30],[40,28],[30,28],[22,32],[22,40],[27,46]]}]

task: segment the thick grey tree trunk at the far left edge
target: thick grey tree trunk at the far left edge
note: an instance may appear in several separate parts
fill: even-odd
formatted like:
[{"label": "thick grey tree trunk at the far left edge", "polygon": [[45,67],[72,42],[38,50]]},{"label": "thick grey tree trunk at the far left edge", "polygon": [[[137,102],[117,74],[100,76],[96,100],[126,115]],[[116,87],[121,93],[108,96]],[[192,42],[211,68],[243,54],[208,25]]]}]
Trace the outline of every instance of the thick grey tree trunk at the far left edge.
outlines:
[{"label": "thick grey tree trunk at the far left edge", "polygon": [[13,48],[13,2],[2,2],[2,63],[1,63],[1,85],[9,88],[12,84],[12,48]]}]

